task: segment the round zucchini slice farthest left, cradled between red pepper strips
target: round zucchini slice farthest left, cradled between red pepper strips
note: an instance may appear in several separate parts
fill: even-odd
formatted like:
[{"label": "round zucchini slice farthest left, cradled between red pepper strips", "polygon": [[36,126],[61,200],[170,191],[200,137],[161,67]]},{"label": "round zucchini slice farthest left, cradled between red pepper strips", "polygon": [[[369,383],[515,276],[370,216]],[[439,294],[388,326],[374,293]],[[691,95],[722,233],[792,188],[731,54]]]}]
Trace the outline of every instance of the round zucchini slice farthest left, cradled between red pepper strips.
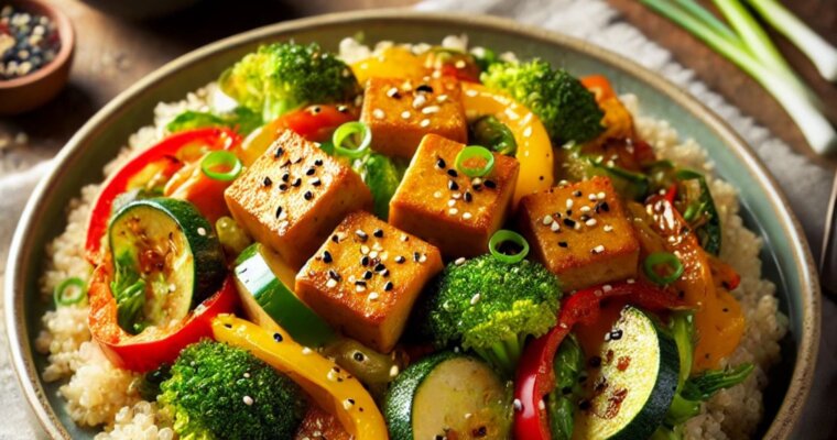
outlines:
[{"label": "round zucchini slice farthest left, cradled between red pepper strips", "polygon": [[119,323],[128,332],[183,319],[224,282],[224,251],[197,208],[172,198],[135,199],[108,228]]}]

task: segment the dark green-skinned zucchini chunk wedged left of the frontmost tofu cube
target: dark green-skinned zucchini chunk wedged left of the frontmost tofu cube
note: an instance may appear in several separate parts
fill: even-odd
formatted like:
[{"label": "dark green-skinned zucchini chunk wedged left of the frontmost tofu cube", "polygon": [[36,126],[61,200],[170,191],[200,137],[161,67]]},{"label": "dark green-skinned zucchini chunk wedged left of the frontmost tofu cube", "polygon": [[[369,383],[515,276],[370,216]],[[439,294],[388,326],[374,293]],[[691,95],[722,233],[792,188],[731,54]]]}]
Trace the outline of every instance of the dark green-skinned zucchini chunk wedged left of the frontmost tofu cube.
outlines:
[{"label": "dark green-skinned zucchini chunk wedged left of the frontmost tofu cube", "polygon": [[303,345],[318,348],[333,342],[334,330],[308,308],[289,286],[295,274],[278,254],[253,243],[236,260],[236,286],[247,316],[259,326],[279,324]]}]

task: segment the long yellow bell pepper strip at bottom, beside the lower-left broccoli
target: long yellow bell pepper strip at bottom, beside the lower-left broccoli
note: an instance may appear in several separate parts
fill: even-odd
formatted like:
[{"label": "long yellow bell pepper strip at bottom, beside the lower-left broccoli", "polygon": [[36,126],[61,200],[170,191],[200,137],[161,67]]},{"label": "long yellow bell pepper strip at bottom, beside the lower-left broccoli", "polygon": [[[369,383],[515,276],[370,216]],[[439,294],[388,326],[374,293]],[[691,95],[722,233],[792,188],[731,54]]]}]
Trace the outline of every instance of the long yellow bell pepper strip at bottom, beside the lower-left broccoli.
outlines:
[{"label": "long yellow bell pepper strip at bottom, beside the lower-left broccoli", "polygon": [[383,416],[363,385],[286,331],[269,331],[232,315],[213,320],[213,336],[244,349],[296,382],[326,411],[335,415],[356,440],[389,438]]}]

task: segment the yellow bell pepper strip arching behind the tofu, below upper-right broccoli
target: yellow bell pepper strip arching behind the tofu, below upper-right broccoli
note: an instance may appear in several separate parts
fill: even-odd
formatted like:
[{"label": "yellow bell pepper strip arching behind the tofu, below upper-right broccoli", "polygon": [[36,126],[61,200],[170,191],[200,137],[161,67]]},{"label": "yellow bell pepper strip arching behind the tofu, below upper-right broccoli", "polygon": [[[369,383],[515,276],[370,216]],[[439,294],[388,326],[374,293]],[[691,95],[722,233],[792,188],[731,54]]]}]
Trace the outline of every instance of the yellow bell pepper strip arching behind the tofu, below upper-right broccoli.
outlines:
[{"label": "yellow bell pepper strip arching behind the tofu, below upper-right broccoli", "polygon": [[492,114],[514,134],[520,177],[514,205],[532,193],[550,189],[554,182],[550,136],[541,120],[512,98],[482,85],[461,82],[463,106],[469,120]]}]

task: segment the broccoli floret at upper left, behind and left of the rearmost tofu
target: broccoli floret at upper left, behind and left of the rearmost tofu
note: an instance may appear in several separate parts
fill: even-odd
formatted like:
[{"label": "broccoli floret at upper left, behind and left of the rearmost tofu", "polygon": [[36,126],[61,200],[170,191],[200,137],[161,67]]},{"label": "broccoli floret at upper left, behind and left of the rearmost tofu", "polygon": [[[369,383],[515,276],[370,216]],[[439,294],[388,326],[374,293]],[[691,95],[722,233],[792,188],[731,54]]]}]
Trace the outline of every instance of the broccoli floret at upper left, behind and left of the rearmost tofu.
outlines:
[{"label": "broccoli floret at upper left, behind and left of the rearmost tofu", "polygon": [[265,121],[309,103],[346,102],[360,92],[349,66],[316,43],[261,46],[221,74],[219,84]]}]

